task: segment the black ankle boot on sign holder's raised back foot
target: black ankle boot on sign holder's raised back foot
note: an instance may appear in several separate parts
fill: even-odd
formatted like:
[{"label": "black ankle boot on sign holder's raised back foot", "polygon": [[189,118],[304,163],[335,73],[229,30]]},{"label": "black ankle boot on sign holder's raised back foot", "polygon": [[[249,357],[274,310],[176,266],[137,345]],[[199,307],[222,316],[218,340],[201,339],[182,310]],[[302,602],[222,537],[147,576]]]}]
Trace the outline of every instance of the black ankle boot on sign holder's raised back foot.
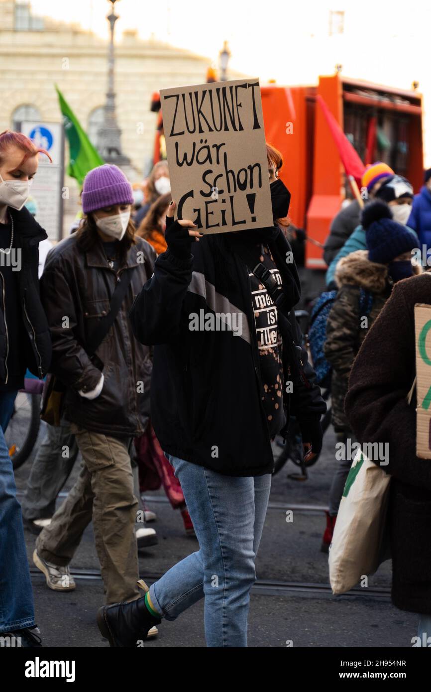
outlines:
[{"label": "black ankle boot on sign holder's raised back foot", "polygon": [[138,640],[147,639],[154,625],[161,623],[145,605],[145,598],[130,603],[113,603],[98,610],[98,628],[109,646],[136,648]]}]

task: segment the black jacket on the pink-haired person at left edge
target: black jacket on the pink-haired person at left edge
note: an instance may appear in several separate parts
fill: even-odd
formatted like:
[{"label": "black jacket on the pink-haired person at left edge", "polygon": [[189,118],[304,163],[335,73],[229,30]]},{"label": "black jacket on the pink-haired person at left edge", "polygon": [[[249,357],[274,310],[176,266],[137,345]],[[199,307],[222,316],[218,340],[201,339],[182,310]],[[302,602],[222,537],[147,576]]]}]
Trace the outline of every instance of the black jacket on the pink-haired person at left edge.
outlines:
[{"label": "black jacket on the pink-haired person at left edge", "polygon": [[[23,344],[12,344],[8,340],[8,327],[5,320],[4,293],[0,300],[0,381],[7,384],[8,372],[6,357],[9,349],[21,349],[22,361],[28,370],[42,379],[51,362],[51,336],[48,322],[39,298],[39,253],[41,240],[48,237],[26,207],[20,211],[8,207],[14,224],[13,246],[21,250],[21,269],[17,271],[21,319],[24,322],[26,335]],[[17,255],[18,257],[19,255]],[[4,280],[1,274],[1,286],[4,291]]]}]

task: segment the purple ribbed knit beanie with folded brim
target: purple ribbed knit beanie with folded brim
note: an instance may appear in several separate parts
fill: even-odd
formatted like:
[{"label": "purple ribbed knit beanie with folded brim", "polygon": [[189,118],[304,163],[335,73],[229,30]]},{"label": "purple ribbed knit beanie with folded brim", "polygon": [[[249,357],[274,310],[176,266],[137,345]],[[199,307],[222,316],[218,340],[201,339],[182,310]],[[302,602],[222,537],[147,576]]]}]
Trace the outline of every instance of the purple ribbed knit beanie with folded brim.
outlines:
[{"label": "purple ribbed knit beanie with folded brim", "polygon": [[86,174],[81,200],[82,211],[89,214],[111,204],[133,204],[134,196],[122,170],[116,165],[104,163]]}]

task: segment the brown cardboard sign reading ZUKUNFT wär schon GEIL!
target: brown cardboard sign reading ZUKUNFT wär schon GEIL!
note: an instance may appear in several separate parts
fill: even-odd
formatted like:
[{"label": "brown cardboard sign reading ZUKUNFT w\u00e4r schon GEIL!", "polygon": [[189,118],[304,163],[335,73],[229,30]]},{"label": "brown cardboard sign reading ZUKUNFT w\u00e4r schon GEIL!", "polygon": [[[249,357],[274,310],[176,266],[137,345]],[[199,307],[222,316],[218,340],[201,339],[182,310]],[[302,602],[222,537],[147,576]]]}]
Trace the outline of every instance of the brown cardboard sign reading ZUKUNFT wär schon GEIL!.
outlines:
[{"label": "brown cardboard sign reading ZUKUNFT w\u00e4r schon GEIL!", "polygon": [[161,90],[178,219],[202,233],[273,226],[259,80]]}]

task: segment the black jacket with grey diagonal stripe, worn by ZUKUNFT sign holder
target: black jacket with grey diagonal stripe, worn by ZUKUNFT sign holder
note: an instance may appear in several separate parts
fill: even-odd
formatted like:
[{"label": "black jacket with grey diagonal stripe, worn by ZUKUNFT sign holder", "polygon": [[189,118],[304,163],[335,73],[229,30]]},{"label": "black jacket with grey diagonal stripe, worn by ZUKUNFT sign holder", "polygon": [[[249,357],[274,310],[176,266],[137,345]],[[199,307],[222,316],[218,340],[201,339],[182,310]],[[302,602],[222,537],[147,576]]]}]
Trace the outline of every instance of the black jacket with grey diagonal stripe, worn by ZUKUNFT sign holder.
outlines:
[{"label": "black jacket with grey diagonal stripe, worn by ZUKUNFT sign holder", "polygon": [[[281,232],[268,246],[283,290],[295,286],[283,305],[289,317],[300,295],[295,265],[286,263],[291,248]],[[221,286],[209,235],[192,244],[188,260],[178,259],[168,248],[157,258],[154,275],[129,316],[136,338],[154,345],[152,424],[163,450],[225,475],[263,475],[273,471],[273,453],[262,406],[248,268],[235,251],[222,259],[235,279],[229,291]],[[190,320],[201,310],[238,313],[241,336],[228,330],[191,331]],[[293,394],[284,397],[287,418],[290,409],[298,418],[319,420],[326,405],[304,349],[302,363]],[[284,378],[289,379],[288,363]]]}]

